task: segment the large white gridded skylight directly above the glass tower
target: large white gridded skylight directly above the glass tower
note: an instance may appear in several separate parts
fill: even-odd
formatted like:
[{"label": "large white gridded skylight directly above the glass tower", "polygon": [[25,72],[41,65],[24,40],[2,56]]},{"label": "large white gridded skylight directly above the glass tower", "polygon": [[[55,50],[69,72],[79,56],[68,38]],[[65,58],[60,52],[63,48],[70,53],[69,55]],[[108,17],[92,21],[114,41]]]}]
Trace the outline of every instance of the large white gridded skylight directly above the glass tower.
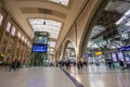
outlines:
[{"label": "large white gridded skylight directly above the glass tower", "polygon": [[61,22],[44,18],[29,18],[29,23],[35,32],[48,32],[51,38],[57,38],[62,27]]}]

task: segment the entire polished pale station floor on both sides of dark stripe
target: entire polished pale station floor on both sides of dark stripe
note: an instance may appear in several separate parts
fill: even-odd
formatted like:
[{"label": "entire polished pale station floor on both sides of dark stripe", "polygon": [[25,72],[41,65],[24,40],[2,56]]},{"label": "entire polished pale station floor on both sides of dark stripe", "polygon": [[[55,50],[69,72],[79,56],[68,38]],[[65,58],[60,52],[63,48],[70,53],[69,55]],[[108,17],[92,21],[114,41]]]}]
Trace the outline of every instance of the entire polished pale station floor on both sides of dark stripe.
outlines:
[{"label": "entire polished pale station floor on both sides of dark stripe", "polygon": [[[130,87],[130,71],[91,65],[65,71],[60,67],[28,67],[15,72],[0,69],[0,87]],[[66,73],[65,73],[66,72]],[[69,77],[80,85],[76,85]]]}]

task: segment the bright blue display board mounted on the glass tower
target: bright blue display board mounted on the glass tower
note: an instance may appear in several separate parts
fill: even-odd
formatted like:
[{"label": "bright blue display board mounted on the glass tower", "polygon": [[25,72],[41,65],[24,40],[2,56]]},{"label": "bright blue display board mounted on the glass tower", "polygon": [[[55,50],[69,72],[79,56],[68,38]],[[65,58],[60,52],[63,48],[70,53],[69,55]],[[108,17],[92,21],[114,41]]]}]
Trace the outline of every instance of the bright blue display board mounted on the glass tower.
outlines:
[{"label": "bright blue display board mounted on the glass tower", "polygon": [[32,52],[47,52],[47,45],[32,45]]}]

